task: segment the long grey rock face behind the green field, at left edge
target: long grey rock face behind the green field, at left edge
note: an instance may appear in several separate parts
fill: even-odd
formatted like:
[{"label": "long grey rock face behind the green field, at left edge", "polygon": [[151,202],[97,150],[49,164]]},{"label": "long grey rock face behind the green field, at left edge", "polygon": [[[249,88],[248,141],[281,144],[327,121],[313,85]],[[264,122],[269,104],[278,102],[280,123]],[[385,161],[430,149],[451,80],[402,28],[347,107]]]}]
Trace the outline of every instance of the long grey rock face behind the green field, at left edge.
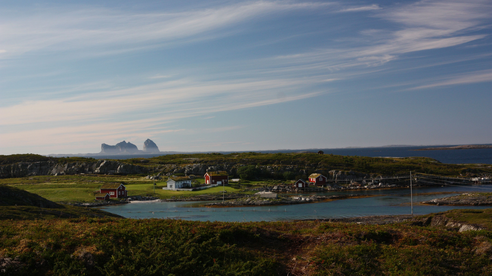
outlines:
[{"label": "long grey rock face behind the green field, at left edge", "polygon": [[78,173],[141,174],[148,172],[149,170],[143,166],[123,164],[118,161],[109,160],[67,163],[57,163],[53,161],[19,162],[0,166],[0,178]]}]

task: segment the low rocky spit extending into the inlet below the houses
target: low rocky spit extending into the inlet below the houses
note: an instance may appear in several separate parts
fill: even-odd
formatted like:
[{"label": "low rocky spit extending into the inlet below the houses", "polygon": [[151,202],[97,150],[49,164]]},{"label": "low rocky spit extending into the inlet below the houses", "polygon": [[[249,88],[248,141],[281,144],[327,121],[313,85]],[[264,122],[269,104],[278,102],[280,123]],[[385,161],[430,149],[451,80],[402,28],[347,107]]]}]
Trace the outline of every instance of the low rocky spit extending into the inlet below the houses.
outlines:
[{"label": "low rocky spit extending into the inlet below the houses", "polygon": [[278,198],[260,197],[260,195],[247,195],[245,197],[227,200],[224,202],[207,203],[205,206],[213,207],[247,207],[247,206],[272,206],[313,203],[319,201],[366,197],[372,195],[343,194],[343,195],[311,195],[311,196],[287,196],[279,195]]}]

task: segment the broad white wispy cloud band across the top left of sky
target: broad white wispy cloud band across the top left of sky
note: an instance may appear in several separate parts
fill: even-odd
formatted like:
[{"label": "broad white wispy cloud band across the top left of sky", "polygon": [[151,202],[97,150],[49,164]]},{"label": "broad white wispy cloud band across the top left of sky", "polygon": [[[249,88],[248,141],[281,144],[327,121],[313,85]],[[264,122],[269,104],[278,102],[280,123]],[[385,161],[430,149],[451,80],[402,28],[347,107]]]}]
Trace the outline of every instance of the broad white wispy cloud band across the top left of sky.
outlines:
[{"label": "broad white wispy cloud band across the top left of sky", "polygon": [[330,5],[251,1],[198,10],[147,13],[94,7],[53,8],[34,10],[27,16],[15,18],[6,14],[11,11],[3,11],[4,16],[0,16],[3,18],[0,19],[0,58],[32,51],[120,54],[196,42],[230,34],[225,29],[253,18]]}]

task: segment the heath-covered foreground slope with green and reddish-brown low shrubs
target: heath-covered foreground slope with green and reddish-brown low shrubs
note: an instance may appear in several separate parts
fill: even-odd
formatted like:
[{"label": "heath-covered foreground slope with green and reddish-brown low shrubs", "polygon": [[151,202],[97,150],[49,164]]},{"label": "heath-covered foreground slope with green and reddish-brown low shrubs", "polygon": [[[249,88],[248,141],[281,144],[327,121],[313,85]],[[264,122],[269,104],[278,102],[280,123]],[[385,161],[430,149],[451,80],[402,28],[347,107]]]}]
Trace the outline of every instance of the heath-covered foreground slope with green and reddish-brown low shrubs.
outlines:
[{"label": "heath-covered foreground slope with green and reddish-brown low shrubs", "polygon": [[492,232],[339,222],[0,221],[4,275],[492,275]]}]

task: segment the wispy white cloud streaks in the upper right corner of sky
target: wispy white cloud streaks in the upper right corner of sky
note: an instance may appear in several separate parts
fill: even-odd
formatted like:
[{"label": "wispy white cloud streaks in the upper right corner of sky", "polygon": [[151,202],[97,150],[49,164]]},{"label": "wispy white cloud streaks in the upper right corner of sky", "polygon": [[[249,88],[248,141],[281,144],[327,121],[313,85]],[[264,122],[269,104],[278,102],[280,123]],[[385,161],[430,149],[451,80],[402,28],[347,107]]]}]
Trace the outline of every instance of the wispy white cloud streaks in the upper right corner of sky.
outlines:
[{"label": "wispy white cloud streaks in the upper right corner of sky", "polygon": [[366,46],[360,46],[359,40],[347,41],[339,47],[279,55],[276,59],[284,66],[290,64],[291,70],[297,67],[338,72],[350,68],[352,74],[354,69],[367,73],[363,67],[383,65],[400,55],[453,47],[486,37],[470,32],[488,24],[491,7],[489,1],[470,0],[419,1],[384,8],[375,16],[399,24],[398,29],[361,31]]}]

